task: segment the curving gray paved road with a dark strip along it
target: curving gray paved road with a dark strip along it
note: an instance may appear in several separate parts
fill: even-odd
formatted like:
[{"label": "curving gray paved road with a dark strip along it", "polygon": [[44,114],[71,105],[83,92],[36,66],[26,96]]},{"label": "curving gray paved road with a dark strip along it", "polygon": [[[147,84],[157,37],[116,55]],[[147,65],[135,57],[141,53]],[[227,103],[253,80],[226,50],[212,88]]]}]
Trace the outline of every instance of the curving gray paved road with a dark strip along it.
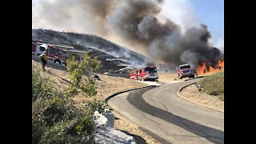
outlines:
[{"label": "curving gray paved road with a dark strip along it", "polygon": [[162,143],[224,143],[224,113],[179,98],[177,90],[198,79],[134,90],[109,100],[122,116]]}]

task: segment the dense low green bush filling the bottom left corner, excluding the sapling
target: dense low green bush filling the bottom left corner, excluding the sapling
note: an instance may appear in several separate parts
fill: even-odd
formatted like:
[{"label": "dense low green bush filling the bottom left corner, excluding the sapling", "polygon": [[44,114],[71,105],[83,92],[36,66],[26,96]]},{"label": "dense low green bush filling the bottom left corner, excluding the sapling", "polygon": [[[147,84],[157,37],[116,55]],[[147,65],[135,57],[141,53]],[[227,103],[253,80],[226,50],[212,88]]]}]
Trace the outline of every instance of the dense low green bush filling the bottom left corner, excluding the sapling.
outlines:
[{"label": "dense low green bush filling the bottom left corner, excluding the sapling", "polygon": [[75,106],[65,94],[54,90],[49,79],[32,68],[32,143],[78,143],[93,138],[90,107]]}]

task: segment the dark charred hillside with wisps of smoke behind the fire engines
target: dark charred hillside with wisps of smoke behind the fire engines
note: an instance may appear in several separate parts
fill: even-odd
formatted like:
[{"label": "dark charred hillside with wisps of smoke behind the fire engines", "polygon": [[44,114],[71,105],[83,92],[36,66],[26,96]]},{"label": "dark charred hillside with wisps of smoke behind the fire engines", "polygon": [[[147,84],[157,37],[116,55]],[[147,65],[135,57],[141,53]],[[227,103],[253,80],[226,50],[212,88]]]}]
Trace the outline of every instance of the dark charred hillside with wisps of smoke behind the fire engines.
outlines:
[{"label": "dark charred hillside with wisps of smoke behind the fire engines", "polygon": [[142,54],[91,34],[32,29],[32,41],[74,46],[74,49],[85,50],[91,56],[98,57],[102,62],[102,70],[118,70],[125,66],[141,67],[150,62]]}]

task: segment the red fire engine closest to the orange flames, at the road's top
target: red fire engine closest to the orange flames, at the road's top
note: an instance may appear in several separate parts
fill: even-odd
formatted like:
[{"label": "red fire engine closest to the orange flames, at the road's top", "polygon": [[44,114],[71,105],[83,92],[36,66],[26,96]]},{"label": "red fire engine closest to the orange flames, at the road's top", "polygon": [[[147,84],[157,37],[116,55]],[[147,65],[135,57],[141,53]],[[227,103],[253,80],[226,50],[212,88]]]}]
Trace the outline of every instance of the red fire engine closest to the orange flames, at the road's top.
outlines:
[{"label": "red fire engine closest to the orange flames, at the road's top", "polygon": [[192,70],[190,64],[183,64],[176,67],[178,78],[194,78],[194,71]]}]

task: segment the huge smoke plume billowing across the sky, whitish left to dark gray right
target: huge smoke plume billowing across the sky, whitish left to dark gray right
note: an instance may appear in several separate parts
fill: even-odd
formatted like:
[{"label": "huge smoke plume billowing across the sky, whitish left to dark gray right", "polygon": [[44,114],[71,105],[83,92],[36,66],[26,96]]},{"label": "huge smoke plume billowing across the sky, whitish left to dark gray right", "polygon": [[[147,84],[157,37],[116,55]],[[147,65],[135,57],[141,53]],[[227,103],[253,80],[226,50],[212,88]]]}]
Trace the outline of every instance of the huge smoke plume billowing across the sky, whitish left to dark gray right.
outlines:
[{"label": "huge smoke plume billowing across the sky, whitish left to dark gray right", "polygon": [[218,63],[218,59],[222,59],[222,53],[210,47],[208,40],[211,35],[207,27],[202,24],[182,33],[181,26],[171,19],[164,18],[160,21],[158,16],[163,2],[163,0],[62,0],[53,3],[45,1],[39,15],[42,16],[42,20],[52,25],[76,26],[73,30],[90,29],[89,31],[106,38],[116,35],[125,39],[130,46],[142,46],[139,48],[144,49],[151,59],[169,66],[201,62],[213,66],[216,61]]}]

